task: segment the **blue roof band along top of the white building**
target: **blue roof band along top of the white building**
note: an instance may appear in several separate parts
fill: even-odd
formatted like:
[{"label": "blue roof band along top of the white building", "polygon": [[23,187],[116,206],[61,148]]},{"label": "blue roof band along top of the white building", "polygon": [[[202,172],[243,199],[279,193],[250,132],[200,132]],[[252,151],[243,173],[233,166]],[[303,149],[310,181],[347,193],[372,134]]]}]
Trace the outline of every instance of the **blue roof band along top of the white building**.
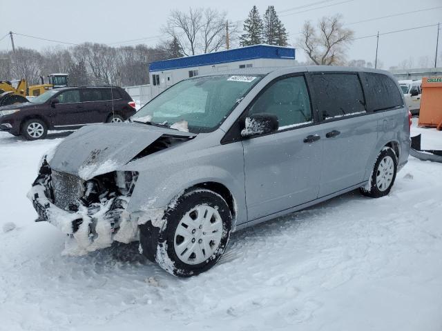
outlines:
[{"label": "blue roof band along top of the white building", "polygon": [[198,66],[211,66],[220,63],[247,61],[252,59],[295,59],[295,49],[270,45],[255,45],[233,50],[223,50],[208,54],[180,57],[152,62],[149,71],[172,70]]}]

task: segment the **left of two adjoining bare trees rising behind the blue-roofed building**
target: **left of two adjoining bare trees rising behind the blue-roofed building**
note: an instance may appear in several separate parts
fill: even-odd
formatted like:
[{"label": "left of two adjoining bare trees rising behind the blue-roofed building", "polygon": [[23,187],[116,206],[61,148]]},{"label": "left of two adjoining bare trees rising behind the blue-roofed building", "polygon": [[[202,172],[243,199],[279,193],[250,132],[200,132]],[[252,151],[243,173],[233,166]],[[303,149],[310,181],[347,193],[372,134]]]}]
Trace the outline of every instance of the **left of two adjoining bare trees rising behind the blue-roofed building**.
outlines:
[{"label": "left of two adjoining bare trees rising behind the blue-roofed building", "polygon": [[202,29],[202,8],[189,8],[189,12],[172,10],[163,32],[176,38],[184,55],[195,55],[198,34]]}]

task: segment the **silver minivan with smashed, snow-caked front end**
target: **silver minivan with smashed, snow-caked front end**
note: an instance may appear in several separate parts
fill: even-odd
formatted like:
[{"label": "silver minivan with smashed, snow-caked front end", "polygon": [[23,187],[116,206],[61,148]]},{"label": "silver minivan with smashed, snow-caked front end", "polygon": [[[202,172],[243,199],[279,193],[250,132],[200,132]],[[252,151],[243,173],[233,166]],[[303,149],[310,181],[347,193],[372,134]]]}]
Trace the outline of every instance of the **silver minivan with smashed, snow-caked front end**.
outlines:
[{"label": "silver minivan with smashed, snow-caked front end", "polygon": [[41,161],[28,193],[66,254],[113,241],[180,277],[231,232],[359,189],[383,197],[407,163],[410,117],[388,72],[312,66],[193,77],[128,123],[86,126]]}]

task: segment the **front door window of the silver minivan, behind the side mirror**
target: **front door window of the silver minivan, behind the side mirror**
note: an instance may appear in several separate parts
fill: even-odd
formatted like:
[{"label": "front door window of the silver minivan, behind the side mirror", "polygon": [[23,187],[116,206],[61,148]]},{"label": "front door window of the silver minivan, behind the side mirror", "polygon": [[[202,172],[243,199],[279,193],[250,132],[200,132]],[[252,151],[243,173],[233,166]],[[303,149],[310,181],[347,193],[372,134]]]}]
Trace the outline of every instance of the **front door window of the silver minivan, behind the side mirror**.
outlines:
[{"label": "front door window of the silver minivan, behind the side mirror", "polygon": [[249,114],[260,112],[276,115],[278,130],[311,122],[310,99],[304,77],[289,77],[273,83],[249,109]]}]

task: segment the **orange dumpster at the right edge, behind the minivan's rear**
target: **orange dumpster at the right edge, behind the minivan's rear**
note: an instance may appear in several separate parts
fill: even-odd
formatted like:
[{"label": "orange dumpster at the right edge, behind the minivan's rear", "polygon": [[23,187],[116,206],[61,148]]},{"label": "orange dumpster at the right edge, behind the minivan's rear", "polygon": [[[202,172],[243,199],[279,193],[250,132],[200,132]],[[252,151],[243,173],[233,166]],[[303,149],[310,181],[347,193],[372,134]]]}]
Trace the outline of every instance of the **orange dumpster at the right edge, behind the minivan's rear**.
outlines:
[{"label": "orange dumpster at the right edge, behind the minivan's rear", "polygon": [[442,77],[422,79],[419,126],[442,130]]}]

